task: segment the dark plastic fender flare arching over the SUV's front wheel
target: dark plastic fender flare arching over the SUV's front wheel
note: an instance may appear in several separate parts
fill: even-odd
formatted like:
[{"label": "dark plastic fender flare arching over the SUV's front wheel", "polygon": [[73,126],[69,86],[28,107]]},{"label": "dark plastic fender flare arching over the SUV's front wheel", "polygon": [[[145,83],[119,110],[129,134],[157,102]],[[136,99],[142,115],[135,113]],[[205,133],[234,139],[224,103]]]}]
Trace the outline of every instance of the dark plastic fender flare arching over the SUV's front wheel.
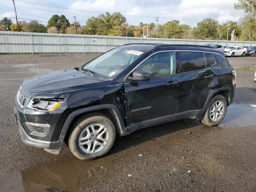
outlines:
[{"label": "dark plastic fender flare arching over the SUV's front wheel", "polygon": [[[80,114],[83,114],[83,113],[93,112],[93,111],[101,110],[101,109],[110,110],[110,113],[112,115],[114,115],[113,116],[114,118],[116,118],[116,122],[117,122],[116,130],[117,130],[118,134],[125,135],[126,132],[127,132],[126,127],[124,126],[124,121],[122,120],[122,116],[121,116],[120,111],[118,110],[118,108],[114,104],[96,105],[96,106],[91,106],[91,107],[76,110],[68,116],[68,118],[67,118],[67,120],[66,120],[66,122],[65,122],[65,124],[62,128],[62,131],[60,133],[59,140],[58,140],[58,142],[61,143],[61,146],[62,146],[64,138],[65,138],[65,136],[68,132],[68,129],[69,129],[72,121],[74,120],[74,118],[76,118],[76,116],[78,116]],[[59,148],[59,150],[61,150],[61,149]]]}]

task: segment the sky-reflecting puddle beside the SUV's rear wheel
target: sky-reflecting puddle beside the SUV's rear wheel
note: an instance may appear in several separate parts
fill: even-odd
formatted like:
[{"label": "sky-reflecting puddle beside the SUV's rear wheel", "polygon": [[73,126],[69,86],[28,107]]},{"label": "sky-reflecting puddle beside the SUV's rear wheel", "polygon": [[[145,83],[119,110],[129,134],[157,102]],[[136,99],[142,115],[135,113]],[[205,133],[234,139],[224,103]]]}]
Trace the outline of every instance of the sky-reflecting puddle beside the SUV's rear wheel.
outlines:
[{"label": "sky-reflecting puddle beside the SUV's rear wheel", "polygon": [[256,105],[232,104],[219,126],[256,126]]}]

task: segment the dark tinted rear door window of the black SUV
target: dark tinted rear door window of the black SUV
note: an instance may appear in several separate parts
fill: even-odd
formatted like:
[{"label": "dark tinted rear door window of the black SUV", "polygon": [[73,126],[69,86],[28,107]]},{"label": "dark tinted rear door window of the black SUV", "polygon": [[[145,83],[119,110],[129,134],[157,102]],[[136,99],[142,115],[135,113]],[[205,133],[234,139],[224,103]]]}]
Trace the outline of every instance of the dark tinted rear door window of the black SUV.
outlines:
[{"label": "dark tinted rear door window of the black SUV", "polygon": [[203,52],[179,51],[180,73],[206,68]]}]

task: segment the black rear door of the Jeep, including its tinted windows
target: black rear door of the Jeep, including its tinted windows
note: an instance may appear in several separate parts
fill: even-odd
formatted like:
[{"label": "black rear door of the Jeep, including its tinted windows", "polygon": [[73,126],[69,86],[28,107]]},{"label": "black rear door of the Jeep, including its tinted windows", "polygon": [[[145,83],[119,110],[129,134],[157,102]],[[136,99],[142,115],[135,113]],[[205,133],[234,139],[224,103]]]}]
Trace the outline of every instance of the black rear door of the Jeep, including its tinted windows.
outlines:
[{"label": "black rear door of the Jeep, including its tinted windows", "polygon": [[196,51],[177,52],[181,81],[178,117],[186,117],[192,110],[201,110],[214,81],[218,81],[214,72],[216,61],[211,53],[205,54]]}]

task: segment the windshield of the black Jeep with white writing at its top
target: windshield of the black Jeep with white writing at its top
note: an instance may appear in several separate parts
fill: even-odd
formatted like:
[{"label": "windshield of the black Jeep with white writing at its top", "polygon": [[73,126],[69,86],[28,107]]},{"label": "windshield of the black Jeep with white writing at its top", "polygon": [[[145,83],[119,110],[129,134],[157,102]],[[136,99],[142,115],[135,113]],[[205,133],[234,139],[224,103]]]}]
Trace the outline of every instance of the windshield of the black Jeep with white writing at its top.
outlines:
[{"label": "windshield of the black Jeep with white writing at its top", "polygon": [[144,52],[118,47],[82,67],[82,70],[93,72],[93,76],[104,80],[112,80]]}]

